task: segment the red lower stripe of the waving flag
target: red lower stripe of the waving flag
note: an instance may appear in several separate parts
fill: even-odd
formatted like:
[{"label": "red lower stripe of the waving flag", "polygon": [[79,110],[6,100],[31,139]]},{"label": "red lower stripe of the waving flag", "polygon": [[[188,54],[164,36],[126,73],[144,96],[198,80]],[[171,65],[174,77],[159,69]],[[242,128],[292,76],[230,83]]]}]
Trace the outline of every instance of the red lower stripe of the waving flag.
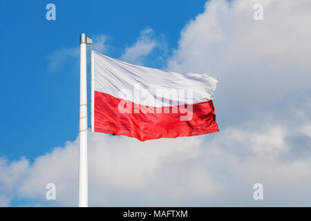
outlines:
[{"label": "red lower stripe of the waving flag", "polygon": [[[180,120],[180,116],[187,113],[180,113],[180,111],[172,113],[173,108],[185,110],[183,106],[169,106],[169,113],[164,113],[164,107],[160,113],[159,111],[134,113],[135,104],[131,102],[131,113],[121,113],[118,107],[122,101],[124,100],[94,91],[94,132],[126,135],[145,141],[160,137],[189,137],[219,131],[212,100],[192,104],[192,117],[188,121]],[[148,108],[148,106],[140,105],[140,108]]]}]

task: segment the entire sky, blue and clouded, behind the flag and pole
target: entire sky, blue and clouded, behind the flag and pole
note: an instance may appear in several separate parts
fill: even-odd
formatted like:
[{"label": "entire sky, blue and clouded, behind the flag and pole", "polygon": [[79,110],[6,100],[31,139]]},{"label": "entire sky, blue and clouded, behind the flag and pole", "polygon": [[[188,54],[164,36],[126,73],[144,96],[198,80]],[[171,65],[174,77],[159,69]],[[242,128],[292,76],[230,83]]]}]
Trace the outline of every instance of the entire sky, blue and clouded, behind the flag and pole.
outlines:
[{"label": "entire sky, blue and clouded, behind the flag and pole", "polygon": [[218,133],[88,133],[90,206],[310,206],[310,11],[310,0],[1,1],[0,206],[77,206],[82,32],[110,57],[219,79]]}]

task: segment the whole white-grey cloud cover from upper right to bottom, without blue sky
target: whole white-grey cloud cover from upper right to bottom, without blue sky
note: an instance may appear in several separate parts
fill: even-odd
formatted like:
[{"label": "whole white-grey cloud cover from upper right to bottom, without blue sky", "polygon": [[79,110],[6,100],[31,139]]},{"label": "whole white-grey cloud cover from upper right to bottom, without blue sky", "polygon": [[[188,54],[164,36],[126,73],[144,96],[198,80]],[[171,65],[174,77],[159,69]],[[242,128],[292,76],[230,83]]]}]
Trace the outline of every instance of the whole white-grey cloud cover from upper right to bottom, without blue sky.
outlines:
[{"label": "whole white-grey cloud cover from upper right to bottom, without blue sky", "polygon": [[[263,21],[254,21],[254,3],[263,3]],[[220,79],[220,132],[143,143],[89,133],[89,204],[310,206],[310,11],[307,0],[208,1],[167,68]],[[142,31],[122,58],[143,62],[157,45],[151,34]],[[0,158],[0,205],[22,198],[76,206],[77,169],[77,140],[33,164]],[[45,199],[48,182],[57,186],[55,202]],[[256,182],[264,200],[252,198]]]}]

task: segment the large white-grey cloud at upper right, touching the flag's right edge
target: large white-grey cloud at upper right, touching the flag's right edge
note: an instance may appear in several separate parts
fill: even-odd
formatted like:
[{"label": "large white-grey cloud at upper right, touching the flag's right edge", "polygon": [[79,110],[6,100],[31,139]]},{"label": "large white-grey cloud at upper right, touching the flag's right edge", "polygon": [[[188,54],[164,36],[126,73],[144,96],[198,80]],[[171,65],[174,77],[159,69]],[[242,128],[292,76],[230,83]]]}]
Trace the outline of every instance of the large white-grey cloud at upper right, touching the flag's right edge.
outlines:
[{"label": "large white-grey cloud at upper right, touching the flag's right edge", "polygon": [[[263,3],[263,21],[254,21],[254,3]],[[220,79],[216,111],[230,119],[296,99],[311,89],[310,10],[306,0],[208,1],[168,68]]]}]

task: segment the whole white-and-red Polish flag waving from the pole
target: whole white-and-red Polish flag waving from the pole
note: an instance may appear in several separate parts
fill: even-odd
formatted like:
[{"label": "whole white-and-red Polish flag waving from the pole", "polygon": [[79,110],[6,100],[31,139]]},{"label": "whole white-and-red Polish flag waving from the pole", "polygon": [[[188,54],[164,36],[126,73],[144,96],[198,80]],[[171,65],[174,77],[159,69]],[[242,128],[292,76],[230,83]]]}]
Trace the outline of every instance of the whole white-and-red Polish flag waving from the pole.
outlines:
[{"label": "whole white-and-red Polish flag waving from the pole", "polygon": [[92,132],[188,137],[218,130],[212,102],[218,80],[146,68],[91,52]]}]

